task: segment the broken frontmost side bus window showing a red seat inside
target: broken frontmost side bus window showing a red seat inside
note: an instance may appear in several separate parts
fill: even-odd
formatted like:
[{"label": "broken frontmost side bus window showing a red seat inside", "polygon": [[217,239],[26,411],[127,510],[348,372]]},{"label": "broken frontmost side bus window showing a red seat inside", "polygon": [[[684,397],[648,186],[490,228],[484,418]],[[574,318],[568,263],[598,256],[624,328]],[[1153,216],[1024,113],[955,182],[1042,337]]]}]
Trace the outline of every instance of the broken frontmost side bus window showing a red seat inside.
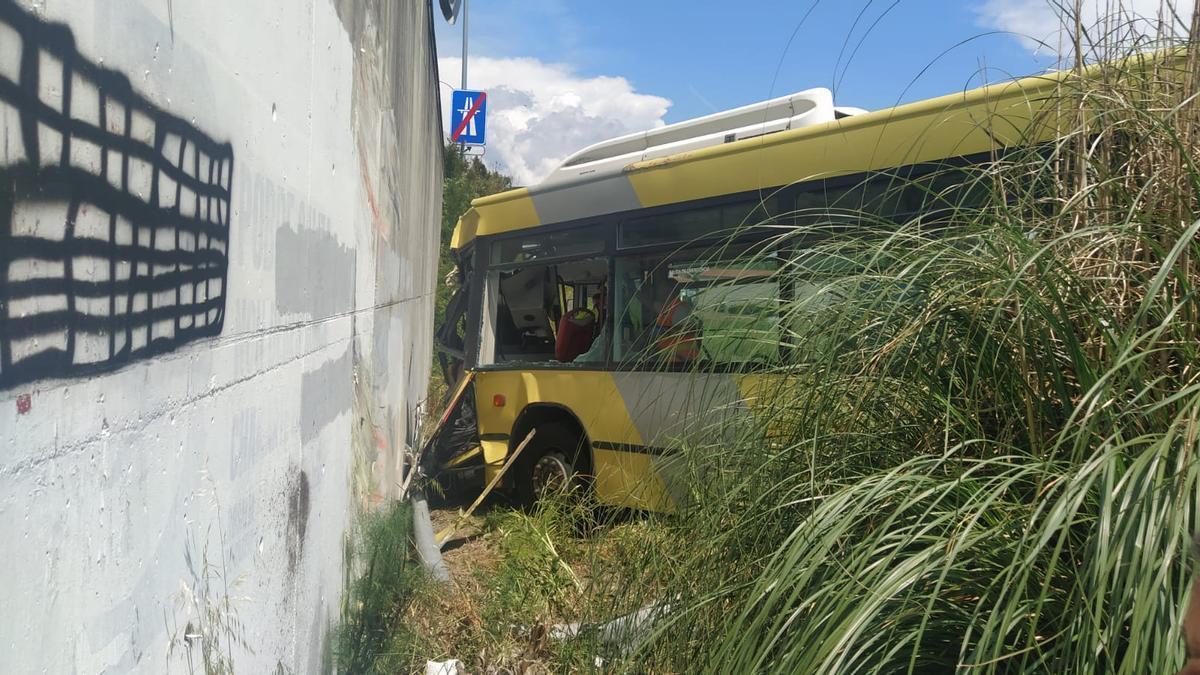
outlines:
[{"label": "broken frontmost side bus window showing a red seat inside", "polygon": [[606,363],[607,275],[605,258],[491,271],[480,365]]}]

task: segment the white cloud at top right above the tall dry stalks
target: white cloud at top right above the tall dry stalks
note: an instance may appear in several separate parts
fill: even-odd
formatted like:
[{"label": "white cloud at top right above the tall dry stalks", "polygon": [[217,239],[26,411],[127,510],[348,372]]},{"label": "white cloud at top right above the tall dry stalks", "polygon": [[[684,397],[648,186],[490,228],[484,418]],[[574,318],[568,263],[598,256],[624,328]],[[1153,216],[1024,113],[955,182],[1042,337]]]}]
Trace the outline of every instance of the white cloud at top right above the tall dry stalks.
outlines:
[{"label": "white cloud at top right above the tall dry stalks", "polygon": [[[1062,17],[1074,7],[1075,0],[986,0],[978,12],[984,25],[1013,31],[1039,54],[1057,55],[1070,50]],[[1157,35],[1182,35],[1192,7],[1192,0],[1082,0],[1080,17],[1092,43],[1130,44]],[[1074,18],[1070,24],[1073,30]]]}]

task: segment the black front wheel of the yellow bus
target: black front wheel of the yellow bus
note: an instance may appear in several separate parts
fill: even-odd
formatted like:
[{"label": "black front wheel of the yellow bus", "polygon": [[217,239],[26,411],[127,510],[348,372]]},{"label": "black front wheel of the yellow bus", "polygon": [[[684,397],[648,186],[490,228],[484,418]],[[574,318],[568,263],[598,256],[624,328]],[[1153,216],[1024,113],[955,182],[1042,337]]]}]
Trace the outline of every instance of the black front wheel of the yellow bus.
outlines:
[{"label": "black front wheel of the yellow bus", "polygon": [[533,504],[541,496],[557,490],[583,485],[580,467],[586,464],[583,438],[574,426],[563,422],[539,424],[533,440],[521,452],[516,466],[516,497]]}]

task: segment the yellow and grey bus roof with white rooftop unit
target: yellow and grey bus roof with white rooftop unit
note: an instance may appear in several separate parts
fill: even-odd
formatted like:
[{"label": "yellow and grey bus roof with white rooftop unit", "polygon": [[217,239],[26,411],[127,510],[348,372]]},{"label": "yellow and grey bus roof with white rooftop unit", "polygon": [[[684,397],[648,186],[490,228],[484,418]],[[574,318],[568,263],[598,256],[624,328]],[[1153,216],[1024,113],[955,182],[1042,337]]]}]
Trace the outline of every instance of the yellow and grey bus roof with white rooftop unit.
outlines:
[{"label": "yellow and grey bus roof with white rooftop unit", "polygon": [[[1048,113],[1055,112],[1055,94],[1070,74],[1060,71],[1026,77],[850,117],[833,113],[828,91],[808,90],[643,132],[666,136],[659,145],[648,138],[638,147],[640,135],[616,138],[572,155],[539,185],[473,201],[455,227],[450,247],[462,249],[475,237],[542,225],[1049,141],[1058,124]],[[812,109],[818,113],[827,103],[821,113],[827,118],[788,127],[779,125],[776,117],[760,125],[768,129],[766,132],[697,143],[700,147],[690,143],[713,135],[715,127],[709,123],[714,118],[745,121],[749,108],[779,108],[781,101],[799,100],[815,102]],[[773,124],[779,130],[769,129]],[[704,133],[696,138],[677,133],[688,130]]]}]

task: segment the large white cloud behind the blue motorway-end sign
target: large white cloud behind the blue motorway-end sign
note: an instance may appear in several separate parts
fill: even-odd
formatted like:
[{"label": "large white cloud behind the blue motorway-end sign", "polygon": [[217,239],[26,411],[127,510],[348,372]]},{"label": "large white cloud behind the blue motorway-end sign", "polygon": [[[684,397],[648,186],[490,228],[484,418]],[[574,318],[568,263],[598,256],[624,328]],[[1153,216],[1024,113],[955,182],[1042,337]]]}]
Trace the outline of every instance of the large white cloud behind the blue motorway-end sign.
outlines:
[{"label": "large white cloud behind the blue motorway-end sign", "polygon": [[[443,73],[462,60],[438,59]],[[638,94],[623,77],[581,77],[569,66],[538,59],[473,56],[468,84],[487,91],[485,161],[517,185],[533,185],[570,154],[635,131],[662,126],[671,101]],[[449,136],[450,91],[442,88],[443,126]]]}]

